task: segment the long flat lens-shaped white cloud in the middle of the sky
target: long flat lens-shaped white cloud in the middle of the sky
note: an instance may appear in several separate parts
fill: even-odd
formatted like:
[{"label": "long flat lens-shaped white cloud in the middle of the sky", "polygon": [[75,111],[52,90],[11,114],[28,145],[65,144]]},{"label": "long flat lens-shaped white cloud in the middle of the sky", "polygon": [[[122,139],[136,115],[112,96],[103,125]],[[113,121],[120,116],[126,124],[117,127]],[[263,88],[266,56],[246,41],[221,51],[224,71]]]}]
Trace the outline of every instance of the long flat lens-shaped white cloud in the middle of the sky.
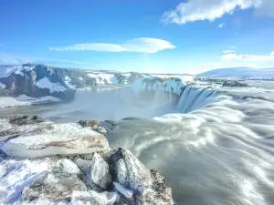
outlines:
[{"label": "long flat lens-shaped white cloud in the middle of the sky", "polygon": [[50,50],[55,51],[106,51],[106,52],[139,52],[139,53],[157,53],[164,49],[172,49],[175,46],[170,42],[157,39],[157,38],[135,38],[125,42],[121,45],[116,44],[101,44],[101,43],[86,43],[86,44],[75,44],[72,46],[62,47],[50,47]]}]

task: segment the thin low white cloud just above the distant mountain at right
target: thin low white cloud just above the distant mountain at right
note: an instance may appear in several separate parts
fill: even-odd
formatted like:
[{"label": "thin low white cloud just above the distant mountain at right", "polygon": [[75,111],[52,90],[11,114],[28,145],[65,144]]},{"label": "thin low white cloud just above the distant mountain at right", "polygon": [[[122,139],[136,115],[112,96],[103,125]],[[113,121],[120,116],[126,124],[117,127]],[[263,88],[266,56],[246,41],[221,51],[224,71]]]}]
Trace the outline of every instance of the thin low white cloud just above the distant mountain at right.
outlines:
[{"label": "thin low white cloud just above the distant mountain at right", "polygon": [[221,60],[239,60],[239,61],[270,61],[274,60],[274,56],[272,55],[272,52],[269,56],[257,56],[257,55],[242,55],[242,54],[235,54],[235,53],[229,53],[223,56],[219,56],[219,59]]}]

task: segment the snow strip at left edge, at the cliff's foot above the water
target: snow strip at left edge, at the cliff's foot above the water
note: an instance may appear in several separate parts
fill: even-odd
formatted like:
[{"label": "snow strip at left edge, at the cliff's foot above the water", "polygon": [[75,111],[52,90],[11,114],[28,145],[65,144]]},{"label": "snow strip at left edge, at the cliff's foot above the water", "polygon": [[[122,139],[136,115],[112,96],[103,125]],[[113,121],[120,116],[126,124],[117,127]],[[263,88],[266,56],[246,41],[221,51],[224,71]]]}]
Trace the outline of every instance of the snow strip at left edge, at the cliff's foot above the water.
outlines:
[{"label": "snow strip at left edge, at the cliff's foot above the water", "polygon": [[0,97],[0,108],[9,108],[16,106],[29,106],[33,104],[46,103],[46,102],[58,102],[57,97],[45,96],[45,97],[28,97],[26,95],[20,95],[18,97]]}]

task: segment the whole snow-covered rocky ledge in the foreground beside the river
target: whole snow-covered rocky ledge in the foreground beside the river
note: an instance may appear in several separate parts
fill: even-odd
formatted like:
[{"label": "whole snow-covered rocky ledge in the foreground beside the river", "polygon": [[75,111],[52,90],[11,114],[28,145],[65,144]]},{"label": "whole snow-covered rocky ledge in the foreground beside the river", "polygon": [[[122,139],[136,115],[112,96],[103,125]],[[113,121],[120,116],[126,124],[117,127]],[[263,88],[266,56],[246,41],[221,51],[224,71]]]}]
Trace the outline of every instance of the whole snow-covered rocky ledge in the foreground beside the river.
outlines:
[{"label": "whole snow-covered rocky ledge in the foreground beside the river", "polygon": [[98,131],[112,126],[0,119],[0,203],[174,204],[159,172],[145,169],[131,151],[109,147]]}]

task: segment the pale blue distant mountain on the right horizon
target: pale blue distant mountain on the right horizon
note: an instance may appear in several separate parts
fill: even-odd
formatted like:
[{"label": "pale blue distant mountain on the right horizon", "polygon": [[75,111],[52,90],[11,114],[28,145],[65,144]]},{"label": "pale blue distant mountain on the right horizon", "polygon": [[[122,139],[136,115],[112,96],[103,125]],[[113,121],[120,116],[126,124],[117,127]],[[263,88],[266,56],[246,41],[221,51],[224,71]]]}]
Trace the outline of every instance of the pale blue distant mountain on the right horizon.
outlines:
[{"label": "pale blue distant mountain on the right horizon", "polygon": [[219,68],[198,74],[197,77],[274,77],[274,68]]}]

